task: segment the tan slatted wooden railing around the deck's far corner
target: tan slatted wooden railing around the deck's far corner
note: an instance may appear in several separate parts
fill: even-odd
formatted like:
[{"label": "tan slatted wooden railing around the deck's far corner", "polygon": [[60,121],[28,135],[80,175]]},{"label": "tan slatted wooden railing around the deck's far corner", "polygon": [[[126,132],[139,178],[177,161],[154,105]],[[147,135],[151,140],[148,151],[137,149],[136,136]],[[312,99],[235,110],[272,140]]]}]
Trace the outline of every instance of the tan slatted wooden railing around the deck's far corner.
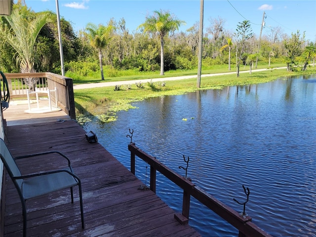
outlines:
[{"label": "tan slatted wooden railing around the deck's far corner", "polygon": [[63,77],[54,73],[5,73],[4,74],[9,87],[11,98],[26,98],[27,90],[30,88],[25,81],[27,79],[35,79],[35,86],[38,90],[47,90],[57,88],[57,98],[51,96],[51,99],[56,102],[70,118],[76,119],[75,98],[73,79]]}]

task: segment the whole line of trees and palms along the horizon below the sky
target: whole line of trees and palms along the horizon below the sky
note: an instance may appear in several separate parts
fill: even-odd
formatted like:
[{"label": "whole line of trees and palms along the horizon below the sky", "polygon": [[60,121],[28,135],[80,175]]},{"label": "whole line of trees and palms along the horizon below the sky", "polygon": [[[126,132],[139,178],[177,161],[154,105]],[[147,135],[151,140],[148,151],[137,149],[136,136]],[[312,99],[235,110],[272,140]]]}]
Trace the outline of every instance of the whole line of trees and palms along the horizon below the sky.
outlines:
[{"label": "whole line of trees and palms along the horizon below the sky", "polygon": [[[205,22],[205,21],[204,21]],[[105,24],[88,23],[77,34],[61,19],[65,71],[80,76],[116,70],[164,71],[197,68],[198,22],[178,32],[185,22],[169,11],[154,11],[134,31],[124,18]],[[205,25],[205,24],[204,24]],[[315,62],[316,42],[297,31],[288,36],[280,27],[266,28],[260,42],[249,21],[237,22],[236,31],[225,29],[225,19],[208,19],[202,39],[202,67],[228,65],[239,75],[240,65],[282,62],[288,70],[306,70]],[[0,70],[4,72],[53,72],[60,74],[56,14],[34,12],[20,0],[10,16],[0,18]],[[300,67],[300,65],[303,65]]]}]

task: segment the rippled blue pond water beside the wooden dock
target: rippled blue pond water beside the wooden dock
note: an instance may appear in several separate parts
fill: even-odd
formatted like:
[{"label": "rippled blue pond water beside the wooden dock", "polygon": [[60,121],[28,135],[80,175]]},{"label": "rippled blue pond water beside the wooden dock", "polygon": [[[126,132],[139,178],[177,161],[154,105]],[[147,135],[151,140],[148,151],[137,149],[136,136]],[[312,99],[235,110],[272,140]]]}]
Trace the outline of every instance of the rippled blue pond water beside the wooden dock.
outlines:
[{"label": "rippled blue pond water beside the wooden dock", "polygon": [[[126,167],[126,135],[164,164],[238,212],[242,185],[250,189],[246,212],[273,236],[316,237],[316,76],[222,90],[205,90],[134,103],[115,122],[85,124]],[[187,118],[187,120],[183,120]],[[137,176],[147,182],[146,163],[136,160]],[[148,168],[149,173],[149,168]],[[181,212],[182,191],[157,176],[157,194]],[[197,204],[190,224],[204,237],[237,237],[237,230]]]}]

